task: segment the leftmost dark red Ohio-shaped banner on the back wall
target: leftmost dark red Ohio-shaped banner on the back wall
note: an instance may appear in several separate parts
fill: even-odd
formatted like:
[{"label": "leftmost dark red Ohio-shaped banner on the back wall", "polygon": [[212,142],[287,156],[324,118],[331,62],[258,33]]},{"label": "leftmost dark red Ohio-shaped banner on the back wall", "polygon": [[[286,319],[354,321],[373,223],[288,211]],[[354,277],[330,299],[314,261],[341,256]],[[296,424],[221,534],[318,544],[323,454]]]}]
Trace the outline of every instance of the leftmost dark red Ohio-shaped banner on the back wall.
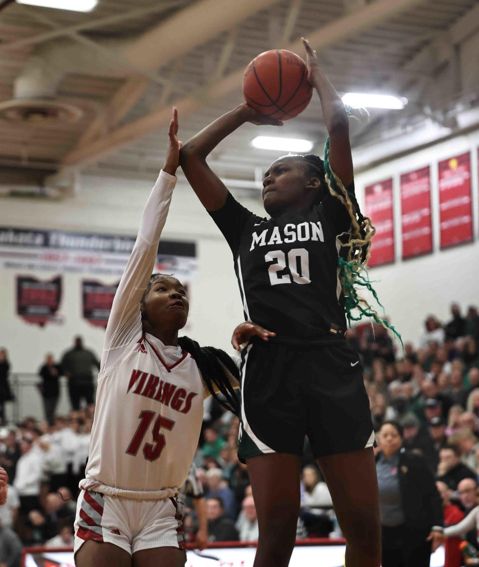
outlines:
[{"label": "leftmost dark red Ohio-shaped banner on the back wall", "polygon": [[60,307],[62,293],[61,276],[40,281],[31,276],[16,278],[16,312],[27,321],[43,327],[48,321],[59,322],[55,317]]}]

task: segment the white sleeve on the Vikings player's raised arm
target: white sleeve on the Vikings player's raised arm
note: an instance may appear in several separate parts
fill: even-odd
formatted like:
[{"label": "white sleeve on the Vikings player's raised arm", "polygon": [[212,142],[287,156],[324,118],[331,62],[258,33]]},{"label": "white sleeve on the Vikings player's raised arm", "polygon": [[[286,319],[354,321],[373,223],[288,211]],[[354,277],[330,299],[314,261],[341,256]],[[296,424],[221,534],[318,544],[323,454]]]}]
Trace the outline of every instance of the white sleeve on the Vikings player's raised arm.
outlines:
[{"label": "white sleeve on the Vikings player's raised arm", "polygon": [[116,362],[122,346],[141,336],[140,300],[154,269],[159,237],[165,226],[176,182],[174,175],[161,170],[146,201],[135,246],[111,307],[100,372]]}]

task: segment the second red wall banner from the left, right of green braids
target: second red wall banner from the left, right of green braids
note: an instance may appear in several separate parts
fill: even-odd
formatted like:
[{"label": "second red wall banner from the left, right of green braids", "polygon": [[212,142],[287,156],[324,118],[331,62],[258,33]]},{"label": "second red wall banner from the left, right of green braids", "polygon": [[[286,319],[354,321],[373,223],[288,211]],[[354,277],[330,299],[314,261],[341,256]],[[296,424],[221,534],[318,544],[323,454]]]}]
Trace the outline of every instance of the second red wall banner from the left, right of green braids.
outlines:
[{"label": "second red wall banner from the left, right of green braids", "polygon": [[432,252],[429,166],[401,175],[401,231],[403,259]]}]

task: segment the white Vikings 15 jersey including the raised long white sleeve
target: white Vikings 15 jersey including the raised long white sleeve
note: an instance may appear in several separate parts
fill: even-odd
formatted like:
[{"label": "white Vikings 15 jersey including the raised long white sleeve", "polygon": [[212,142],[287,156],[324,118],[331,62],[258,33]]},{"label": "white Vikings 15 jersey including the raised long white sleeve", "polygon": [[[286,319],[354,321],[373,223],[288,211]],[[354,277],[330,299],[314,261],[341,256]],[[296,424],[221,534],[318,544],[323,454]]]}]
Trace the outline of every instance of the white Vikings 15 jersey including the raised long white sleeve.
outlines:
[{"label": "white Vikings 15 jersey including the raised long white sleeve", "polygon": [[160,172],[112,304],[86,478],[79,484],[85,490],[175,496],[198,445],[205,392],[198,367],[178,346],[145,335],[140,314],[175,181]]}]

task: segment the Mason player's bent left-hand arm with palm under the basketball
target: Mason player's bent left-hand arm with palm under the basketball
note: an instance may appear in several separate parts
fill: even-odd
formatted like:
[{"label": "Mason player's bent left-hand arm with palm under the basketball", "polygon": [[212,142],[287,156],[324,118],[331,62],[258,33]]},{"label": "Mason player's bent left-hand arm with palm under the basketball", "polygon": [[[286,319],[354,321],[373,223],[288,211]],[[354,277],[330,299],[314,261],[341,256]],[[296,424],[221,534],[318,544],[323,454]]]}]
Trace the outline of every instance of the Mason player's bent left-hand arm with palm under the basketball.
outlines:
[{"label": "Mason player's bent left-hand arm with palm under the basketball", "polygon": [[246,103],[226,112],[184,143],[180,151],[180,165],[188,182],[207,211],[221,209],[228,197],[228,189],[209,168],[206,158],[212,150],[245,122],[280,126],[280,120],[262,116]]}]

